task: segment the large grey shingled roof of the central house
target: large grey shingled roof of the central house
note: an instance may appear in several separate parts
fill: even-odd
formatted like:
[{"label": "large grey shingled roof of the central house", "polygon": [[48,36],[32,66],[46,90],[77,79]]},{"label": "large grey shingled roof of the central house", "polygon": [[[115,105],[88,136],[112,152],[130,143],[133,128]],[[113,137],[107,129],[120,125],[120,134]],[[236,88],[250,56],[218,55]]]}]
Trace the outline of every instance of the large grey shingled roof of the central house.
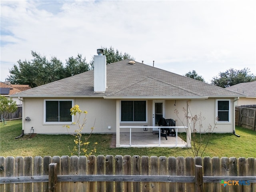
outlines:
[{"label": "large grey shingled roof of the central house", "polygon": [[104,97],[104,98],[180,98],[243,97],[198,80],[140,62],[122,60],[107,65],[107,88],[94,92],[94,71],[84,72],[17,94],[20,97]]}]

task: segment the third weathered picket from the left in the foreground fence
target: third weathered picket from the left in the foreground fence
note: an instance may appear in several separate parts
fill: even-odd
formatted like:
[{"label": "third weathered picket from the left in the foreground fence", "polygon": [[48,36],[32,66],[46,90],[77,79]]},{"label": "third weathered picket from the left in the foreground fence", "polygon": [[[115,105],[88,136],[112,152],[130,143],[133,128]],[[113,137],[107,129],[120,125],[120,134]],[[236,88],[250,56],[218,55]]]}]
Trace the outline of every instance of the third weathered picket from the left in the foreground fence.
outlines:
[{"label": "third weathered picket from the left in the foreground fence", "polygon": [[[14,159],[14,176],[23,176],[24,175],[24,158],[16,157]],[[24,183],[17,183],[14,185],[15,192],[24,191]]]}]

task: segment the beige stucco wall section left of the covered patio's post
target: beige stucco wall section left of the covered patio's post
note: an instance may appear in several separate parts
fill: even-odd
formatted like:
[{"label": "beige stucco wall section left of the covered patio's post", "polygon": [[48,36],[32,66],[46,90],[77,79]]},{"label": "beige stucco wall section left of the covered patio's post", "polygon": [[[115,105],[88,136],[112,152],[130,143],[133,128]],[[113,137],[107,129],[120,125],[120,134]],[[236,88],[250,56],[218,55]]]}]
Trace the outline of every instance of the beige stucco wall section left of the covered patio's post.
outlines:
[{"label": "beige stucco wall section left of the covered patio's post", "polygon": [[[47,98],[23,98],[23,124],[25,134],[29,134],[31,127],[38,134],[63,134],[68,133],[63,127],[63,123],[44,123],[44,99]],[[49,99],[49,98],[48,98]],[[63,99],[63,98],[56,98]],[[74,99],[74,105],[78,104],[81,110],[86,110],[87,121],[83,132],[90,132],[90,128],[94,126],[94,133],[111,133],[116,132],[116,101],[105,100],[103,98],[68,98]],[[26,117],[30,117],[30,121],[26,121]],[[95,119],[96,118],[96,119]],[[94,125],[95,121],[95,125]],[[111,129],[108,129],[108,126]],[[74,132],[78,127],[70,125],[70,132]]]}]

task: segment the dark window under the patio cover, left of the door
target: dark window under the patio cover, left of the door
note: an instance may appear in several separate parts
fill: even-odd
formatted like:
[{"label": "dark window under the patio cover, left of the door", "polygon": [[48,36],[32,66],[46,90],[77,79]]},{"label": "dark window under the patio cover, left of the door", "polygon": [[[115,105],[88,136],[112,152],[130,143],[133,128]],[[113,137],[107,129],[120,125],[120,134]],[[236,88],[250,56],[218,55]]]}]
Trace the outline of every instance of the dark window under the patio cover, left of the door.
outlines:
[{"label": "dark window under the patio cover, left of the door", "polygon": [[146,101],[121,101],[121,121],[146,121]]}]

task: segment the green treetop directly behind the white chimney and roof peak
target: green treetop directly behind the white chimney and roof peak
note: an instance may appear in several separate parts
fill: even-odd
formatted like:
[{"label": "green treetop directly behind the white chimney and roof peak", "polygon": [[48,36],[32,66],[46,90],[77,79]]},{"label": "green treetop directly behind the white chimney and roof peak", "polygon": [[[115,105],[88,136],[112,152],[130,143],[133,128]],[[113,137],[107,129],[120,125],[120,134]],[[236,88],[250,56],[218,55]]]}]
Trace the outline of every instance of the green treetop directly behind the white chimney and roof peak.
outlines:
[{"label": "green treetop directly behind the white chimney and roof peak", "polygon": [[[134,60],[134,58],[130,56],[130,54],[126,52],[122,54],[122,52],[119,52],[117,49],[115,50],[112,46],[110,46],[110,48],[106,48],[106,47],[101,47],[101,48],[103,49],[103,55],[106,56],[107,65],[110,63],[124,60],[124,59]],[[94,68],[93,62],[94,62],[94,58],[92,58],[92,60],[90,61],[90,66],[92,68]]]}]

